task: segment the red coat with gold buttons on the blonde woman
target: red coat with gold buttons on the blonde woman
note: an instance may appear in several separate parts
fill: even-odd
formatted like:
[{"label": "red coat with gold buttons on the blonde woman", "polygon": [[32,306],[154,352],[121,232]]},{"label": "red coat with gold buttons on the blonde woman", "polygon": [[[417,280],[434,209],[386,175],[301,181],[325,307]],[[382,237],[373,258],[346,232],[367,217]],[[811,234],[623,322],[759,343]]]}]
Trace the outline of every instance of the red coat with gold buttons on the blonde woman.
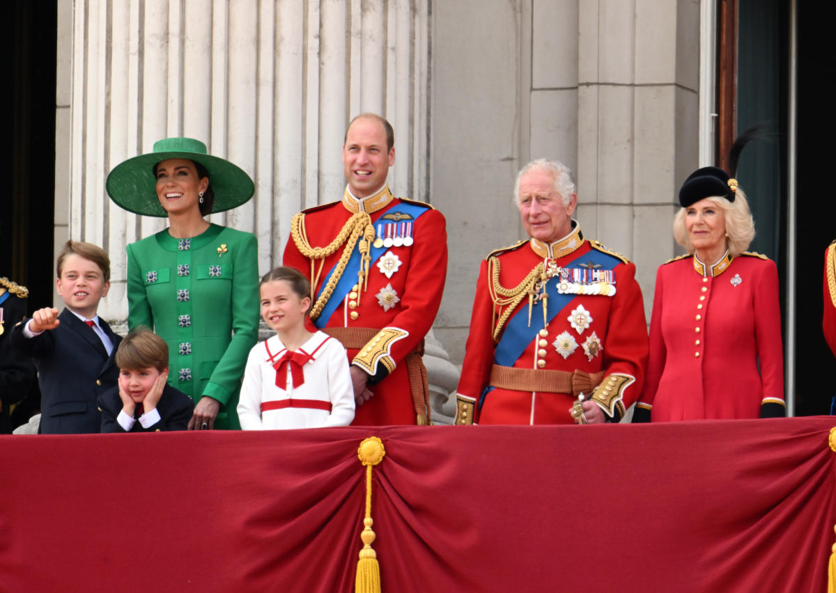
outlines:
[{"label": "red coat with gold buttons on the blonde woman", "polygon": [[783,407],[775,263],[744,253],[714,266],[693,256],[660,266],[637,413],[650,410],[654,422],[758,418]]}]

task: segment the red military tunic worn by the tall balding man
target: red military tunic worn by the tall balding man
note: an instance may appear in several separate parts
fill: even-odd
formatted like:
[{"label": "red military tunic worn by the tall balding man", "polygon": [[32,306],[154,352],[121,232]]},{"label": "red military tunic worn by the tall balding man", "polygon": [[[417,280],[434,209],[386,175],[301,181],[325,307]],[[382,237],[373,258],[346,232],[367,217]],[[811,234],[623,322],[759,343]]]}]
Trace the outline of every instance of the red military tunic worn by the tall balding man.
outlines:
[{"label": "red military tunic worn by the tall balding man", "polygon": [[[431,205],[395,198],[388,187],[364,200],[357,200],[346,191],[342,202],[303,213],[303,232],[309,246],[322,247],[334,241],[359,209],[370,214],[372,225],[384,229],[385,236],[385,229],[395,228],[386,225],[410,220],[398,215],[399,206],[405,204],[424,210],[411,221],[410,228],[399,226],[395,230],[403,236],[409,233],[412,241],[405,242],[411,244],[386,248],[385,255],[371,263],[366,288],[350,291],[324,324],[325,331],[329,327],[364,327],[381,332],[362,348],[347,347],[349,361],[370,374],[369,388],[374,394],[357,408],[352,425],[416,422],[405,357],[430,331],[441,305],[447,270],[446,223],[441,212],[433,210]],[[314,260],[312,274],[311,258],[303,256],[291,236],[283,262],[307,276],[317,294],[343,251],[344,247],[340,246],[325,257],[321,273],[322,260]],[[386,271],[391,271],[390,277]]]}]

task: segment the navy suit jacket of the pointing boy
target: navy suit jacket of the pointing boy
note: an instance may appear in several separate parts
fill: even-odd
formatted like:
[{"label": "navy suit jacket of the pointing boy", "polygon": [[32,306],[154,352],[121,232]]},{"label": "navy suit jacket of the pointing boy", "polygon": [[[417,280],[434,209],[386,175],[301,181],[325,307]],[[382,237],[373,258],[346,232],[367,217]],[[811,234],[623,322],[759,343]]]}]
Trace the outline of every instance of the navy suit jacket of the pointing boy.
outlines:
[{"label": "navy suit jacket of the pointing boy", "polygon": [[113,342],[108,356],[104,344],[92,327],[64,309],[61,324],[53,330],[27,338],[23,323],[12,330],[13,347],[31,356],[38,369],[41,388],[41,424],[39,433],[98,433],[101,413],[99,395],[117,385],[119,369],[114,356],[122,338],[99,317],[104,333]]}]

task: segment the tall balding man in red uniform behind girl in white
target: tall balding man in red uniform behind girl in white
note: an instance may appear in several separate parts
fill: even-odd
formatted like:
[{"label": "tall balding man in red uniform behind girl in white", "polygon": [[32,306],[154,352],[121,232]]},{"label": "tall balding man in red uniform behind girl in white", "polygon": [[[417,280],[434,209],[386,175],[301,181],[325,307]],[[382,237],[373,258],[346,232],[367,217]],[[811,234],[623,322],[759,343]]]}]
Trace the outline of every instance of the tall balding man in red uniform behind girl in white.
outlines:
[{"label": "tall balding man in red uniform behind girl in white", "polygon": [[427,424],[423,341],[447,270],[444,216],[386,185],[395,137],[375,114],[345,133],[343,200],[293,217],[284,265],[311,281],[315,327],[349,352],[354,425]]}]

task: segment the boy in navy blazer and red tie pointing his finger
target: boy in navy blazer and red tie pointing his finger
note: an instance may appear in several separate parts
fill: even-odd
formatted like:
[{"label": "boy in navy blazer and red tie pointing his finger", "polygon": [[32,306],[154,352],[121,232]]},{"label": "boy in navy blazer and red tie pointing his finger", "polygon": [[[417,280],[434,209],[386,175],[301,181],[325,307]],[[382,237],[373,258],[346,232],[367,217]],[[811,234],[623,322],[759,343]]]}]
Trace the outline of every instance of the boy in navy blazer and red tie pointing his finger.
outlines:
[{"label": "boy in navy blazer and red tie pointing his finger", "polygon": [[99,301],[110,289],[110,258],[100,247],[67,241],[56,264],[64,311],[45,307],[18,323],[13,347],[33,357],[41,388],[43,434],[98,433],[96,400],[116,385],[114,362],[122,339],[99,319]]}]

